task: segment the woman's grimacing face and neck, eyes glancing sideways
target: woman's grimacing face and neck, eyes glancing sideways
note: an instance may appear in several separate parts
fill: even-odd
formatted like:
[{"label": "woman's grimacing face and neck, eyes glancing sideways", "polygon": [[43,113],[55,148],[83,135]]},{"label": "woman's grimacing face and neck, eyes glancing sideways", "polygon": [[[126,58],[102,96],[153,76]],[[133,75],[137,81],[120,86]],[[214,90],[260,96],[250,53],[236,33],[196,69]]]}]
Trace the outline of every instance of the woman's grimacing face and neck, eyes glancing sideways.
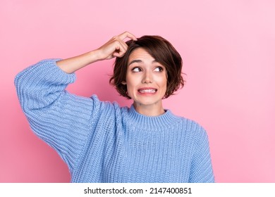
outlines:
[{"label": "woman's grimacing face and neck, eyes glancing sideways", "polygon": [[128,96],[135,108],[162,108],[162,98],[166,93],[166,68],[145,51],[135,49],[129,56],[126,74]]}]

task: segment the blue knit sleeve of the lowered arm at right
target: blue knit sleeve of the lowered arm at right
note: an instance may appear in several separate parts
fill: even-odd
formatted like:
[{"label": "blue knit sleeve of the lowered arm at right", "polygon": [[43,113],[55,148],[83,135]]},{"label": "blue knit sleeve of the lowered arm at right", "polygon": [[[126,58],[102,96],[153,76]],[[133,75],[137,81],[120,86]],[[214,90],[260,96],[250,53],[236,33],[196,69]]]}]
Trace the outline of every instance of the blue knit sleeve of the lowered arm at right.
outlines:
[{"label": "blue knit sleeve of the lowered arm at right", "polygon": [[198,133],[195,141],[195,153],[190,170],[191,183],[213,183],[214,173],[209,151],[207,132],[198,125]]}]

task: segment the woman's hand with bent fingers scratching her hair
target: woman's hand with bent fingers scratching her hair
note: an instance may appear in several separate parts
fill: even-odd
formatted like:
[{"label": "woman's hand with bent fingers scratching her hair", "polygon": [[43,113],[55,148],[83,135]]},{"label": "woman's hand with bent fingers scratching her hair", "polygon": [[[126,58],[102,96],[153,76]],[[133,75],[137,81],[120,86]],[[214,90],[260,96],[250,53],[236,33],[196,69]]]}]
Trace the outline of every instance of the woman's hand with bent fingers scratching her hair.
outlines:
[{"label": "woman's hand with bent fingers scratching her hair", "polygon": [[123,41],[123,39],[126,39],[127,37],[133,40],[137,40],[137,38],[130,32],[124,32],[118,36],[114,36],[103,46],[97,49],[99,52],[99,59],[109,60],[114,57],[123,57],[128,49],[128,46],[126,42]]}]

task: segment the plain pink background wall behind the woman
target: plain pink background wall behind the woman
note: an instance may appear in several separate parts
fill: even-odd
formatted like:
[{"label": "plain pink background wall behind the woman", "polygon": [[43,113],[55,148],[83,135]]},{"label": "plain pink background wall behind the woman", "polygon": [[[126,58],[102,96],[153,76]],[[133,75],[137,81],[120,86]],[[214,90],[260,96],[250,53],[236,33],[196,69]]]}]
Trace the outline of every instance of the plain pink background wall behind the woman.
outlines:
[{"label": "plain pink background wall behind the woman", "polygon": [[[187,83],[164,106],[207,129],[216,182],[275,182],[274,10],[271,0],[1,0],[0,182],[70,181],[57,153],[31,132],[16,73],[125,30],[159,34],[181,53]],[[78,71],[69,91],[130,105],[109,86],[113,62]]]}]

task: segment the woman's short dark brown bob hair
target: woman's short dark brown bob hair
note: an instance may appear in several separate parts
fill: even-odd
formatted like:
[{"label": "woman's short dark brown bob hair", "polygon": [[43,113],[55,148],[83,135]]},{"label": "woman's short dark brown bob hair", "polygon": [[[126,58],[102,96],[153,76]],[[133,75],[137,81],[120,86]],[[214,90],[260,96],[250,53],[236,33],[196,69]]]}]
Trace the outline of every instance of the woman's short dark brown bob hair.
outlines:
[{"label": "woman's short dark brown bob hair", "polygon": [[128,68],[128,58],[130,54],[138,48],[145,49],[155,61],[164,65],[166,68],[167,84],[166,94],[164,98],[168,98],[184,86],[184,80],[181,76],[181,69],[183,67],[183,61],[181,55],[176,51],[170,42],[160,36],[142,36],[137,41],[130,39],[126,42],[128,49],[123,57],[116,58],[114,63],[114,74],[111,75],[109,83],[116,87],[121,96],[125,96],[130,99],[127,94],[127,85],[122,84],[126,81],[126,73]]}]

